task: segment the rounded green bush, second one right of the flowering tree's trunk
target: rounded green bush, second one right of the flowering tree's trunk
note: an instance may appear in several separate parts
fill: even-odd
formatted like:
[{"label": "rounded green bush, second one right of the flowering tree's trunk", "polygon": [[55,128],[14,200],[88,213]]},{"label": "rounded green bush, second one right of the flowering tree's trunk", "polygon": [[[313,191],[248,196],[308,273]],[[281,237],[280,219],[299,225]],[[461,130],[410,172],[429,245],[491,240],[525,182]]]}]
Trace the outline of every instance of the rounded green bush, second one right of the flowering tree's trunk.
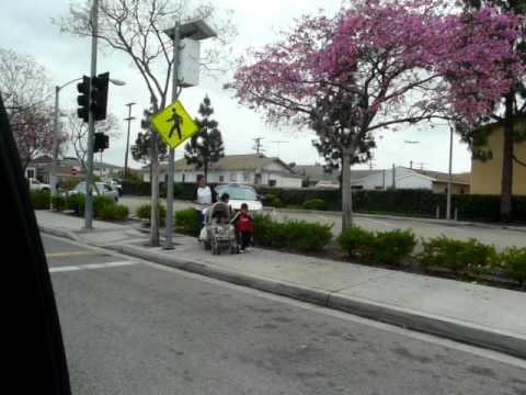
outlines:
[{"label": "rounded green bush, second one right of the flowering tree's trunk", "polygon": [[416,238],[411,230],[390,230],[375,236],[373,259],[375,262],[400,264],[413,252]]}]

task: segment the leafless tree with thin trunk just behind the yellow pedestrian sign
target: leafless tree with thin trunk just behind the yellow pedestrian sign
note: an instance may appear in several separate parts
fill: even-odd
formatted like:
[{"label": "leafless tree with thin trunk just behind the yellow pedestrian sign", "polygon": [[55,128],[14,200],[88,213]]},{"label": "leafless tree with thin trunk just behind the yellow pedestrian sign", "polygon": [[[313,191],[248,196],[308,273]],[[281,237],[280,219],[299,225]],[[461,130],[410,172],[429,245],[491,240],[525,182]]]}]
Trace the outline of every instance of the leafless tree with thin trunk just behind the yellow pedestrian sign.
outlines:
[{"label": "leafless tree with thin trunk just behind the yellow pedestrian sign", "polygon": [[[61,32],[88,37],[92,35],[90,3],[72,4],[69,15],[55,20]],[[195,5],[194,5],[195,4]],[[153,112],[167,105],[170,75],[173,68],[172,41],[163,30],[176,21],[207,19],[218,33],[210,44],[205,44],[202,66],[213,70],[230,55],[229,43],[237,33],[231,23],[231,12],[221,12],[210,2],[186,0],[101,0],[99,10],[99,40],[111,49],[125,53],[132,59],[148,89]],[[213,21],[211,21],[213,20]],[[153,140],[153,139],[152,139]],[[153,147],[155,148],[155,147]],[[159,162],[151,149],[152,213],[157,213]],[[159,245],[158,221],[151,222],[150,244]]]}]

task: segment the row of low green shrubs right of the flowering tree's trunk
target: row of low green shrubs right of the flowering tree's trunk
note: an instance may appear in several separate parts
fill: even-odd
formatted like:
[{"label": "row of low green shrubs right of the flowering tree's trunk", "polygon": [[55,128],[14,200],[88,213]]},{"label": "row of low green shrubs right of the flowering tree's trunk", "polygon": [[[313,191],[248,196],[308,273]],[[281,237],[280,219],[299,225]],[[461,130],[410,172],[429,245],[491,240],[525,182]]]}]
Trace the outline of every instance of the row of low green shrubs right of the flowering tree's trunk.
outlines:
[{"label": "row of low green shrubs right of the flowering tree's trunk", "polygon": [[467,241],[445,236],[422,240],[422,251],[412,256],[416,239],[409,230],[371,233],[359,227],[345,230],[338,242],[350,257],[365,262],[400,266],[409,258],[426,269],[445,268],[456,274],[506,276],[526,284],[526,248],[502,252],[476,239]]}]

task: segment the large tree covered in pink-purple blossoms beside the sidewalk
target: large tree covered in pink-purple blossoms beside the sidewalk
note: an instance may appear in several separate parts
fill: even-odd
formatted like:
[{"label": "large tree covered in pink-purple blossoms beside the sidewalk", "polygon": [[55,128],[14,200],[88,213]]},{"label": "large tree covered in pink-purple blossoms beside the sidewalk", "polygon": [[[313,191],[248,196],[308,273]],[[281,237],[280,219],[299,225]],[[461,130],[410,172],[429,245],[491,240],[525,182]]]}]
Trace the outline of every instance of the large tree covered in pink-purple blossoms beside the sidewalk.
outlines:
[{"label": "large tree covered in pink-purple blossoms beside the sidewalk", "polygon": [[351,163],[375,131],[456,111],[474,119],[508,88],[501,60],[514,60],[517,21],[484,8],[466,22],[439,1],[361,0],[333,18],[304,16],[277,43],[249,52],[227,88],[267,121],[334,142],[344,230]]}]

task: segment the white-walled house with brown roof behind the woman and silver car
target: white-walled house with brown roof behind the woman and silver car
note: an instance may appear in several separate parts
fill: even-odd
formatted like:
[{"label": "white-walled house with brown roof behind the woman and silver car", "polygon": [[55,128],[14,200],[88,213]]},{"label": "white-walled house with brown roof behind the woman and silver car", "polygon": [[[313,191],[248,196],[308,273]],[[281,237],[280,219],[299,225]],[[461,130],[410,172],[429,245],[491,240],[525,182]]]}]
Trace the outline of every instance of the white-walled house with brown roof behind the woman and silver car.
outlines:
[{"label": "white-walled house with brown roof behind the woman and silver car", "polygon": [[[159,180],[168,180],[168,163],[160,163]],[[182,158],[174,163],[174,182],[193,183],[203,169],[186,163]],[[142,169],[144,181],[150,180],[149,167]],[[213,163],[208,169],[207,182],[210,183],[244,183],[276,188],[301,188],[301,176],[297,174],[279,158],[267,158],[262,155],[227,155]]]}]

